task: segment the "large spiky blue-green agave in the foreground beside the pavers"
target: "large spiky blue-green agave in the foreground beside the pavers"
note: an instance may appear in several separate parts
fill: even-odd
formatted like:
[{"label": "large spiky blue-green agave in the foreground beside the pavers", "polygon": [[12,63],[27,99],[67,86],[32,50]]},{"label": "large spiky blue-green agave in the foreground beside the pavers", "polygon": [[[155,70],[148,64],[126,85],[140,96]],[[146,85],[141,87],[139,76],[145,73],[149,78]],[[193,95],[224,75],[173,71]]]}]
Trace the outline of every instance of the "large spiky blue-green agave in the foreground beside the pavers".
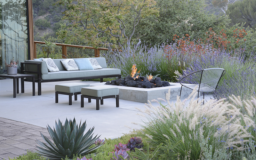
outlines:
[{"label": "large spiky blue-green agave in the foreground beside the pavers", "polygon": [[90,148],[90,146],[92,146],[100,136],[97,137],[96,135],[93,137],[94,127],[90,128],[84,134],[85,128],[86,121],[82,125],[80,121],[78,127],[75,118],[73,122],[66,119],[64,125],[60,122],[60,119],[58,123],[55,121],[55,128],[53,128],[54,131],[49,125],[47,127],[54,144],[41,133],[46,143],[37,140],[36,142],[40,147],[36,146],[38,148],[36,153],[50,159],[65,159],[66,156],[68,158],[73,158],[73,155],[76,154],[81,156],[87,155],[89,152],[99,148],[104,143]]}]

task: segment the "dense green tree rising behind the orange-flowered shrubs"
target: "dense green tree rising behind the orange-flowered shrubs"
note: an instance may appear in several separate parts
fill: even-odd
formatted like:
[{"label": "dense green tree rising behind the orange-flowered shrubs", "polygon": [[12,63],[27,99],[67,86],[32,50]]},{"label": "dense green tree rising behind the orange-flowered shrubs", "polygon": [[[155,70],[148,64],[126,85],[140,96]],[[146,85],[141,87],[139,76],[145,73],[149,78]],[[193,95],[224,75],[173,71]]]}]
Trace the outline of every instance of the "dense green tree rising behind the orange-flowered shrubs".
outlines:
[{"label": "dense green tree rising behind the orange-flowered shrubs", "polygon": [[[152,15],[142,20],[135,36],[141,41],[160,45],[170,43],[173,35],[191,39],[203,38],[209,28],[221,30],[227,24],[224,16],[209,15],[203,11],[204,0],[157,0],[159,16]],[[221,29],[220,29],[221,28]]]}]

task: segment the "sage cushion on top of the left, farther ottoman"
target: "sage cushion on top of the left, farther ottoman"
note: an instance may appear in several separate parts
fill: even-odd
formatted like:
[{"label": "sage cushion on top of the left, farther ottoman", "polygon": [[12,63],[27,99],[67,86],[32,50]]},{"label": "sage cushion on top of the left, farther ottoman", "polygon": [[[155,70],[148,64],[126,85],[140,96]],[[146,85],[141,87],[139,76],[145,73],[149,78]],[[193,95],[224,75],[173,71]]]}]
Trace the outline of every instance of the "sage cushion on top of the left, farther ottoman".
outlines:
[{"label": "sage cushion on top of the left, farther ottoman", "polygon": [[83,87],[90,87],[90,84],[83,84],[83,83],[56,84],[55,91],[65,92],[65,93],[75,93],[75,92],[81,92],[81,88]]}]

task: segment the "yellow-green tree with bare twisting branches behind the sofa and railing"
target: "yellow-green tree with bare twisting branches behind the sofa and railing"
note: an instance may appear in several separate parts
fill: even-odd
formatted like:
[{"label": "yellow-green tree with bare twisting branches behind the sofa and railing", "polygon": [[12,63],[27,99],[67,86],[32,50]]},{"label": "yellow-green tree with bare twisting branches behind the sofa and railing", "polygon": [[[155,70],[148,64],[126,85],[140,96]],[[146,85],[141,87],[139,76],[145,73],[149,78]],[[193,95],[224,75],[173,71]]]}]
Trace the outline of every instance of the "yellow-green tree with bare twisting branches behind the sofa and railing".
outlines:
[{"label": "yellow-green tree with bare twisting branches behind the sofa and railing", "polygon": [[59,4],[67,7],[63,13],[69,21],[59,37],[94,47],[130,45],[140,21],[158,12],[154,0],[60,0]]}]

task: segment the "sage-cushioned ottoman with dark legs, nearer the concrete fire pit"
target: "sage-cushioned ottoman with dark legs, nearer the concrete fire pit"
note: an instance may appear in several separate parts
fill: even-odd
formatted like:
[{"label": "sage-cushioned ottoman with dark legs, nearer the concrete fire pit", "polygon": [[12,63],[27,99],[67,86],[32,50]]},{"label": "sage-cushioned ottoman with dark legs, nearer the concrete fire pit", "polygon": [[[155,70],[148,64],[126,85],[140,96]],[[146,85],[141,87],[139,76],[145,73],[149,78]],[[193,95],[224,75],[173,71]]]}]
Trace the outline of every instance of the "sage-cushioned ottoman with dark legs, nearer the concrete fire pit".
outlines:
[{"label": "sage-cushioned ottoman with dark legs, nearer the concrete fire pit", "polygon": [[100,110],[100,104],[103,104],[103,99],[116,98],[116,107],[119,107],[119,89],[111,86],[92,86],[81,89],[81,107],[84,107],[84,98],[96,100],[96,110]]}]

